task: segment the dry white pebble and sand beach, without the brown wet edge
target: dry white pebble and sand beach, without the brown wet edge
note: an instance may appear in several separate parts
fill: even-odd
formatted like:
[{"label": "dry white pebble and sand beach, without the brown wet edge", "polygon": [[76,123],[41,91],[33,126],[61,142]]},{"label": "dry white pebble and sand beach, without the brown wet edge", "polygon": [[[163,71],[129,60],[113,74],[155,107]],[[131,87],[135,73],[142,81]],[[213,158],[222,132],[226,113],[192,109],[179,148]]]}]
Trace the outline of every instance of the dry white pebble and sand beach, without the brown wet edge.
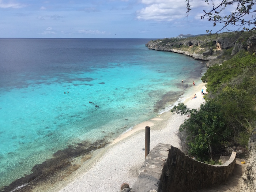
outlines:
[{"label": "dry white pebble and sand beach, without the brown wet edge", "polygon": [[[193,94],[184,101],[188,108],[199,109],[201,103],[205,102],[201,89],[206,91],[205,83],[193,87]],[[197,98],[191,99],[194,94]],[[145,127],[150,127],[150,150],[158,143],[179,148],[180,141],[176,134],[185,118],[187,117],[166,112],[136,125],[100,150],[98,155],[84,163],[77,172],[53,185],[49,191],[118,192],[123,182],[132,187],[145,160]]]}]

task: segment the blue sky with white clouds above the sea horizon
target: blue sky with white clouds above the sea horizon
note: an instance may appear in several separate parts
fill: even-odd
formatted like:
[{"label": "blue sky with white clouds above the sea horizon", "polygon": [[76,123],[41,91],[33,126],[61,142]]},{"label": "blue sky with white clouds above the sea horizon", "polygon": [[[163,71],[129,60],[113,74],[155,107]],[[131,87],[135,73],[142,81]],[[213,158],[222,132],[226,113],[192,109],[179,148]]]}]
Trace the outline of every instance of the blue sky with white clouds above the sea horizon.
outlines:
[{"label": "blue sky with white clouds above the sea horizon", "polygon": [[191,4],[187,18],[186,0],[0,0],[0,38],[164,38],[220,28],[200,19],[211,5]]}]

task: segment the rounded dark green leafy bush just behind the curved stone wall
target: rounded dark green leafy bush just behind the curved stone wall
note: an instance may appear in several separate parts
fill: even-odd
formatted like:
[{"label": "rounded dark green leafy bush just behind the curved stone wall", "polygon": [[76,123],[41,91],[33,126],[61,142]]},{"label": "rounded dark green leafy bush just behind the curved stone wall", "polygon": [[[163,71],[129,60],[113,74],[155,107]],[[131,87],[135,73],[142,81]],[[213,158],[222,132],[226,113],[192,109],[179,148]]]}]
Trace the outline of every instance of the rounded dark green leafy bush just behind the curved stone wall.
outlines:
[{"label": "rounded dark green leafy bush just behind the curved stone wall", "polygon": [[[201,105],[199,110],[189,109],[179,103],[171,112],[190,116],[180,126],[180,131],[187,135],[188,154],[199,160],[208,160],[210,154],[217,151],[219,143],[225,139],[225,120],[222,106],[213,100]],[[224,133],[224,134],[223,134]]]}]

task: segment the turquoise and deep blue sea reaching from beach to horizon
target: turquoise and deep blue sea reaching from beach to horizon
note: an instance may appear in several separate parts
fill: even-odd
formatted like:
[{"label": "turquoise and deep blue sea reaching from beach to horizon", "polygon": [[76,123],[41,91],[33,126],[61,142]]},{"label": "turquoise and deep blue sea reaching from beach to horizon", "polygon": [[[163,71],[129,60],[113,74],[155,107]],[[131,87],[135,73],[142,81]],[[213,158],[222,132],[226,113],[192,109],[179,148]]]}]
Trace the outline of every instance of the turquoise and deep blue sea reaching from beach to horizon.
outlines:
[{"label": "turquoise and deep blue sea reaching from beach to horizon", "polygon": [[0,190],[182,101],[204,63],[150,40],[0,38]]}]

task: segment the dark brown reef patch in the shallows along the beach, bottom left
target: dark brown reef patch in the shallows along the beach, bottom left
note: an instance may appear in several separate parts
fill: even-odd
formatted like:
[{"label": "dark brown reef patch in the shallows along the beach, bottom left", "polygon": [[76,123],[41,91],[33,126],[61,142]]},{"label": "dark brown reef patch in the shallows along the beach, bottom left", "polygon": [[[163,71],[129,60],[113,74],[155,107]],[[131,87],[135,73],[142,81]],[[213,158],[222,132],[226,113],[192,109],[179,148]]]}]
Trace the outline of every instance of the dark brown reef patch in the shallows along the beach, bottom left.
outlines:
[{"label": "dark brown reef patch in the shallows along the beach, bottom left", "polygon": [[[79,168],[79,165],[72,164],[77,157],[83,160],[90,159],[91,153],[108,144],[106,139],[97,140],[94,143],[84,141],[70,145],[64,150],[59,150],[53,154],[53,158],[47,159],[39,165],[35,165],[31,174],[12,182],[9,186],[0,188],[1,192],[32,192],[38,185],[52,184],[69,176]],[[23,187],[20,187],[23,186]]]}]

